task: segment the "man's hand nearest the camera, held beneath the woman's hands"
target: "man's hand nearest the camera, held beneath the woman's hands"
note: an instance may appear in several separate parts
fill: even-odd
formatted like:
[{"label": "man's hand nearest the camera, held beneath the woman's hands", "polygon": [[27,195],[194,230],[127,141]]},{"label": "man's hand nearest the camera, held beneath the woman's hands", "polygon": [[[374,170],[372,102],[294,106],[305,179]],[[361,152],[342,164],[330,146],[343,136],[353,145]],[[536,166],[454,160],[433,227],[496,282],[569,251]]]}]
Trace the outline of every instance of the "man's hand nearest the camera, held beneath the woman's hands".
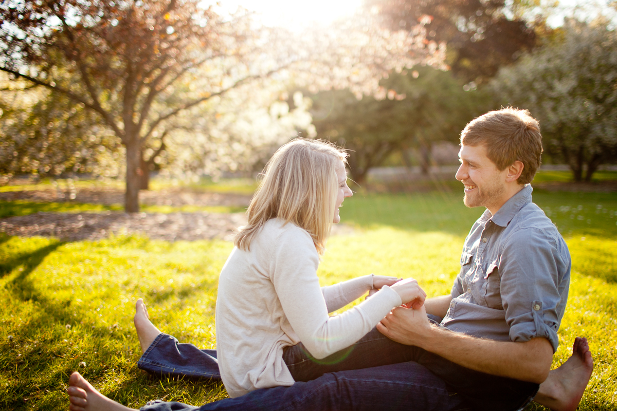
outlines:
[{"label": "man's hand nearest the camera, held beneath the woman's hands", "polygon": [[377,330],[397,343],[421,347],[426,340],[426,335],[433,330],[426,316],[426,309],[420,306],[418,309],[408,307],[395,307],[384,317]]}]

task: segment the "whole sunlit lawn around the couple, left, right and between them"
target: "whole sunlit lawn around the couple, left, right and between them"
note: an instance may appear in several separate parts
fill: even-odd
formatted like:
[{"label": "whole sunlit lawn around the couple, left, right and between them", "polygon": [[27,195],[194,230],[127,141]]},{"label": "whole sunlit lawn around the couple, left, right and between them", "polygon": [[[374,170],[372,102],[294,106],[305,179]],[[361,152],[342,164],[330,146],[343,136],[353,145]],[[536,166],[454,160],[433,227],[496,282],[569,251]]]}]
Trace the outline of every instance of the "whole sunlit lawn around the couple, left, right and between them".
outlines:
[{"label": "whole sunlit lawn around the couple, left, right and between them", "polygon": [[[579,409],[616,409],[617,193],[537,190],[534,200],[573,256],[553,365],[569,356],[575,336],[587,336],[595,371]],[[448,293],[463,240],[479,214],[462,205],[462,193],[355,195],[341,216],[357,230],[329,240],[321,280],[374,272],[413,276],[429,296]],[[217,279],[231,248],[220,240],[0,237],[0,409],[66,409],[72,370],[134,408],[151,399],[200,405],[226,397],[220,384],[140,372],[132,317],[135,300],[143,297],[160,330],[202,348],[215,346]]]}]

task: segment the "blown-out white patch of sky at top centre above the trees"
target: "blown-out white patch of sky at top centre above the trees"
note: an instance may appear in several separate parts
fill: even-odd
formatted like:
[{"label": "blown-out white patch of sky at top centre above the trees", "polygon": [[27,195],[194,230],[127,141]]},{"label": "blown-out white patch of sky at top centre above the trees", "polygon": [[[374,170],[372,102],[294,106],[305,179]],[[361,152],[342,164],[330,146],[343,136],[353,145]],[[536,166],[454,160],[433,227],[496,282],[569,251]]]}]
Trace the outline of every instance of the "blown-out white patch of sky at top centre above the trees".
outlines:
[{"label": "blown-out white patch of sky at top centre above the trees", "polygon": [[223,0],[223,6],[254,10],[268,26],[300,29],[309,25],[327,25],[339,18],[349,17],[362,0]]}]

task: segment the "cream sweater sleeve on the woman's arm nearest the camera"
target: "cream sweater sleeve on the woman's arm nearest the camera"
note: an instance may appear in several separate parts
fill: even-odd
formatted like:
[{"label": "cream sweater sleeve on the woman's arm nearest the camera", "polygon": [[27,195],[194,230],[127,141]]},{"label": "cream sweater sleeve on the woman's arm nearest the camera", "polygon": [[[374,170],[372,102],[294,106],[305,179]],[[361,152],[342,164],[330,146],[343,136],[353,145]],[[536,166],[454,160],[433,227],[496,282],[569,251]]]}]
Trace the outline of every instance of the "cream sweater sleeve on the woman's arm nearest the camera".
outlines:
[{"label": "cream sweater sleeve on the woman's arm nearest the camera", "polygon": [[276,240],[270,275],[289,324],[310,354],[322,359],[360,340],[401,300],[386,286],[341,315],[329,317],[317,278],[318,264],[310,235],[290,227]]}]

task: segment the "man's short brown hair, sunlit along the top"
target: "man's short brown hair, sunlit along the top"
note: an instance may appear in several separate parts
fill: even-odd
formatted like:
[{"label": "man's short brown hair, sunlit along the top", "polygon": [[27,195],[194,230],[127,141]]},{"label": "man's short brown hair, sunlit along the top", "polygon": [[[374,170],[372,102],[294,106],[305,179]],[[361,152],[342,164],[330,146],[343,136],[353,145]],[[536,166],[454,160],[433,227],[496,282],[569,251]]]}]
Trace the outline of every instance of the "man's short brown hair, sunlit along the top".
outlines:
[{"label": "man's short brown hair, sunlit along the top", "polygon": [[500,170],[521,161],[524,167],[518,184],[531,182],[540,168],[540,124],[528,110],[507,107],[479,116],[461,132],[461,144],[484,145],[487,157]]}]

